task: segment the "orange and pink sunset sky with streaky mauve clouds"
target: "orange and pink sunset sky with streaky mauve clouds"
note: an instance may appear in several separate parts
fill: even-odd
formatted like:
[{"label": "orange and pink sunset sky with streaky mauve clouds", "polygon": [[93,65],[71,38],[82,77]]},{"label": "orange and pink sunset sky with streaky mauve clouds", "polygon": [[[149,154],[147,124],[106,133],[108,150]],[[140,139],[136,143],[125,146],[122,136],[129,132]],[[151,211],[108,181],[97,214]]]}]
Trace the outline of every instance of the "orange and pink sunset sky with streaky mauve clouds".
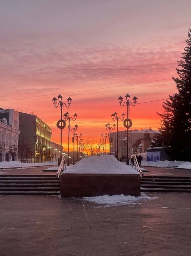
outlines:
[{"label": "orange and pink sunset sky with streaky mauve clouds", "polygon": [[118,97],[129,93],[138,98],[132,129],[157,130],[156,111],[176,92],[190,9],[190,0],[0,0],[0,107],[34,113],[59,143],[52,98],[70,96],[71,127],[98,142],[111,114],[127,112]]}]

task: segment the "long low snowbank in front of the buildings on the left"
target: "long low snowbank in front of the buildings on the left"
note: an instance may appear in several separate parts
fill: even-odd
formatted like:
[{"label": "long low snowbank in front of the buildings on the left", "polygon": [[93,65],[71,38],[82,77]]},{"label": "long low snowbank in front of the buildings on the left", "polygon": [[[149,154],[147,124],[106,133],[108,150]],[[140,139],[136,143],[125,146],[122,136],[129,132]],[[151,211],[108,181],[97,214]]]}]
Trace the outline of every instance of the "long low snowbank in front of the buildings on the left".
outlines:
[{"label": "long low snowbank in front of the buildings on the left", "polygon": [[2,161],[0,162],[0,168],[11,168],[11,167],[33,167],[42,165],[58,165],[56,161],[50,161],[46,163],[21,163],[20,161]]}]

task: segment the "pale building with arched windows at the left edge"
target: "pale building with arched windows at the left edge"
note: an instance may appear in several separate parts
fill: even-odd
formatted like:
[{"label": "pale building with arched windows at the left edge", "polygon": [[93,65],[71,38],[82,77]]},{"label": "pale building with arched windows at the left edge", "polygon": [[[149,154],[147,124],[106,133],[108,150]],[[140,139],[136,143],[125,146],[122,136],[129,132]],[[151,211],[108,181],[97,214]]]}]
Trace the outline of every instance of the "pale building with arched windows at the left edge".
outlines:
[{"label": "pale building with arched windows at the left edge", "polygon": [[0,108],[0,161],[17,160],[19,113]]}]

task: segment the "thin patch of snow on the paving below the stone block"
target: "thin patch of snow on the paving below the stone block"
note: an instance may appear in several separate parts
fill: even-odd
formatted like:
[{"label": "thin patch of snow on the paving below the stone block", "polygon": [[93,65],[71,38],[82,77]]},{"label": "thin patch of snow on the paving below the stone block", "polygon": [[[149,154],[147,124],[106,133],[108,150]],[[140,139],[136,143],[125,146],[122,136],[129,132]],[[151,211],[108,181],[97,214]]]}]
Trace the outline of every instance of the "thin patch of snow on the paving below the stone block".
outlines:
[{"label": "thin patch of snow on the paving below the stone block", "polygon": [[93,202],[95,204],[104,204],[104,207],[116,206],[116,205],[134,205],[141,204],[147,200],[153,200],[157,197],[149,197],[146,193],[141,193],[141,197],[132,197],[125,195],[113,195],[113,196],[98,196],[98,197],[85,197],[84,201]]}]

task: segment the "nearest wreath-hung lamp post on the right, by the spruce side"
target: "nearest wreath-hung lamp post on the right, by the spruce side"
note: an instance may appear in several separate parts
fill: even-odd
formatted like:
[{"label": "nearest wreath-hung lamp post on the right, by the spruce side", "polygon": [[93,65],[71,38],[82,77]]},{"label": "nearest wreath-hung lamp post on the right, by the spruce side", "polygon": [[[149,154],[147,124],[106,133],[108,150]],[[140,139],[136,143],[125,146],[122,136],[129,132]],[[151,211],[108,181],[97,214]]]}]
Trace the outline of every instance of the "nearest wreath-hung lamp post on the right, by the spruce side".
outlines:
[{"label": "nearest wreath-hung lamp post on the right, by the spruce side", "polygon": [[[119,101],[119,104],[120,106],[124,106],[125,104],[127,105],[127,119],[124,120],[124,126],[127,128],[127,161],[126,161],[126,164],[129,165],[129,128],[132,126],[132,121],[131,119],[129,119],[129,105],[135,107],[136,105],[136,102],[138,100],[138,98],[136,98],[136,96],[133,97],[133,103],[131,101],[129,101],[129,98],[130,98],[130,95],[127,93],[126,95],[126,101],[123,103],[123,98],[122,96],[120,96],[118,98],[118,101]],[[127,122],[127,124],[126,124]]]}]

